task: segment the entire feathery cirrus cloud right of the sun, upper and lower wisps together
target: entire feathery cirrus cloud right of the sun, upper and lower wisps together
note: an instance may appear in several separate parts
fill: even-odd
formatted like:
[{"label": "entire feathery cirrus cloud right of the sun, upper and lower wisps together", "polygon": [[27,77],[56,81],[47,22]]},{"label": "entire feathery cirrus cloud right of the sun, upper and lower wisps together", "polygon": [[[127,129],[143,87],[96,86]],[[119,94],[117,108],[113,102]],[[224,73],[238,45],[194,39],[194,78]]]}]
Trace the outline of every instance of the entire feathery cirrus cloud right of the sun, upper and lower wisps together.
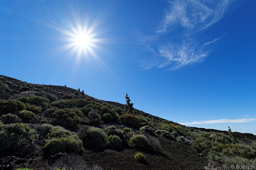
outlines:
[{"label": "entire feathery cirrus cloud right of the sun, upper and lower wisps together", "polygon": [[164,41],[154,48],[149,47],[150,44],[148,44],[148,50],[154,54],[154,61],[146,69],[156,66],[158,68],[165,67],[169,70],[175,70],[188,64],[203,61],[212,51],[211,45],[221,39],[226,33],[205,43],[199,41],[198,35],[219,21],[232,1],[170,1],[170,8],[166,10],[162,23],[156,30],[154,37],[159,39],[161,37],[171,37],[177,30],[182,30],[182,33],[180,33],[178,40]]}]

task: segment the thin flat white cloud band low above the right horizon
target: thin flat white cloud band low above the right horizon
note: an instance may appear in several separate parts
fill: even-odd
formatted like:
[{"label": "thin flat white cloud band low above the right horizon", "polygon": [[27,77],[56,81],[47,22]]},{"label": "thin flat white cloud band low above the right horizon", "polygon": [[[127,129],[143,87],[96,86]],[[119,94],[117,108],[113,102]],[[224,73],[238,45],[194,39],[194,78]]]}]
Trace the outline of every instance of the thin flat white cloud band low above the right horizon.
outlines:
[{"label": "thin flat white cloud band low above the right horizon", "polygon": [[216,119],[216,120],[206,120],[206,121],[194,121],[194,122],[181,122],[182,125],[197,125],[197,124],[216,124],[216,123],[251,123],[256,121],[256,118],[248,119]]}]

